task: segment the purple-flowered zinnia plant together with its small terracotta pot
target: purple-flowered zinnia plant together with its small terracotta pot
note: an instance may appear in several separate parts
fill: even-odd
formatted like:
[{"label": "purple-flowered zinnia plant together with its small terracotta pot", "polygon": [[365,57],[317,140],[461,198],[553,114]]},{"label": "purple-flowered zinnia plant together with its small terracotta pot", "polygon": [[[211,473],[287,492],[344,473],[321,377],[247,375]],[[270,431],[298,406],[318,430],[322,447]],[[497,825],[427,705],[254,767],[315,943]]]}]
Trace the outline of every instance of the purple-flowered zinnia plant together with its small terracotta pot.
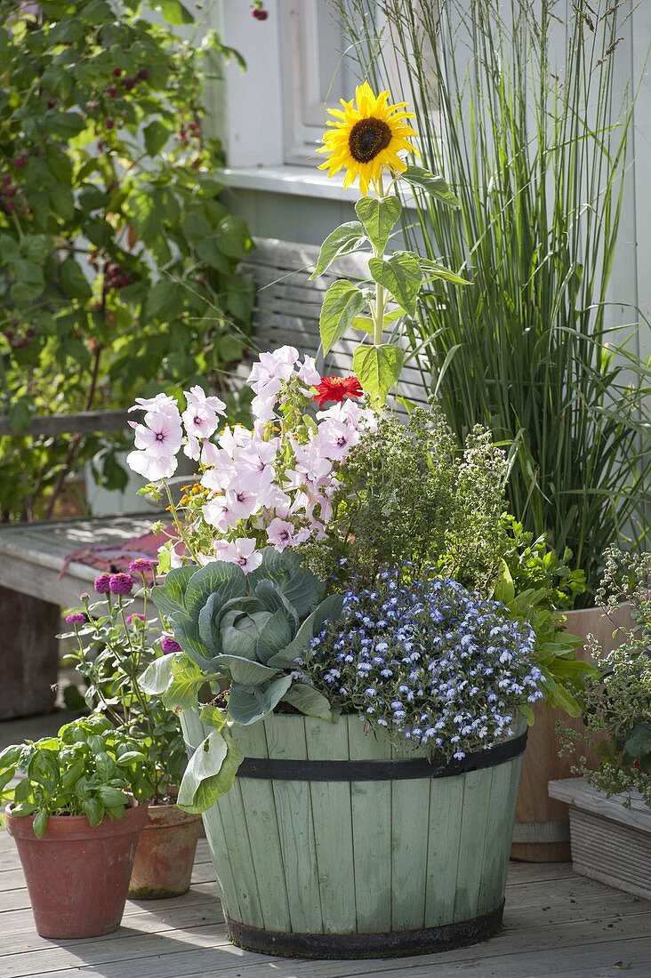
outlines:
[{"label": "purple-flowered zinnia plant together with its small terracotta pot", "polygon": [[[156,561],[138,558],[128,573],[100,574],[101,600],[83,595],[82,606],[66,617],[72,631],[60,636],[75,642],[68,661],[87,684],[86,705],[137,742],[152,765],[153,791],[129,885],[134,900],[188,891],[201,830],[200,817],[175,804],[187,762],[178,716],[138,682],[150,663],[179,649],[157,617],[148,617],[155,572]],[[142,613],[131,609],[136,599]]]}]

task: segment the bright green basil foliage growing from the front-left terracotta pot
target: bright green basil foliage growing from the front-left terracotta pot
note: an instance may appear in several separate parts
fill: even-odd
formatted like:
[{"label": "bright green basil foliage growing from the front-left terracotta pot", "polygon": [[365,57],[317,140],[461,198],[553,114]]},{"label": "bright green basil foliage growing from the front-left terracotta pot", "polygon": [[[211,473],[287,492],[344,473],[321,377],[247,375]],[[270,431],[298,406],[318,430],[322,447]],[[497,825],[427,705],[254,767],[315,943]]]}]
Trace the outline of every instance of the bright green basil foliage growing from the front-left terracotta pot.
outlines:
[{"label": "bright green basil foliage growing from the front-left terracotta pot", "polygon": [[[23,778],[9,786],[17,775]],[[85,717],[56,736],[5,747],[0,790],[13,805],[12,817],[34,816],[41,838],[53,815],[85,815],[91,825],[121,819],[131,795],[138,802],[151,798],[154,772],[140,742],[106,717]]]}]

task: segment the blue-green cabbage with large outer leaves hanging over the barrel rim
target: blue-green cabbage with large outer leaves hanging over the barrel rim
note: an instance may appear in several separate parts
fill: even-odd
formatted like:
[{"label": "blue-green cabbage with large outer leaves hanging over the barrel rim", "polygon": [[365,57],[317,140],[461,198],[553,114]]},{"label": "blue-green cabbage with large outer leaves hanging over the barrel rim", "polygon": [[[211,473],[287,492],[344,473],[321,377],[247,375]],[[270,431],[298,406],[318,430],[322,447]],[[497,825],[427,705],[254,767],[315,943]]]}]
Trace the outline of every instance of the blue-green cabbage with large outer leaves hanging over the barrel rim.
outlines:
[{"label": "blue-green cabbage with large outer leaves hanging over the barrel rim", "polygon": [[229,790],[243,755],[234,725],[262,720],[279,703],[334,720],[328,699],[302,677],[302,656],[343,597],[323,599],[324,585],[296,554],[262,551],[245,574],[235,563],[170,570],[153,599],[182,651],[156,659],[143,673],[146,692],[180,710],[194,710],[213,728],[190,759],[177,804],[204,812]]}]

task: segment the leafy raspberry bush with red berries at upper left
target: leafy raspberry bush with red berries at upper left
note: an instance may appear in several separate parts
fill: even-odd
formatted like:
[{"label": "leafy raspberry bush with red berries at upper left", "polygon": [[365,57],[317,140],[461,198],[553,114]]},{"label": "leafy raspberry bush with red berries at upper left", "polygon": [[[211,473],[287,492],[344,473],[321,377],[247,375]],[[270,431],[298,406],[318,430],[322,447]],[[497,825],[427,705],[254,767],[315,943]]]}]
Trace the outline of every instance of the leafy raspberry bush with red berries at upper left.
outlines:
[{"label": "leafy raspberry bush with red berries at upper left", "polygon": [[[154,4],[191,22],[178,0]],[[0,415],[123,408],[140,388],[227,374],[248,345],[251,241],[219,199],[221,146],[203,97],[224,58],[136,0],[0,0]],[[234,415],[235,417],[235,415]],[[48,518],[95,456],[122,488],[114,441],[0,438],[0,521]]]}]

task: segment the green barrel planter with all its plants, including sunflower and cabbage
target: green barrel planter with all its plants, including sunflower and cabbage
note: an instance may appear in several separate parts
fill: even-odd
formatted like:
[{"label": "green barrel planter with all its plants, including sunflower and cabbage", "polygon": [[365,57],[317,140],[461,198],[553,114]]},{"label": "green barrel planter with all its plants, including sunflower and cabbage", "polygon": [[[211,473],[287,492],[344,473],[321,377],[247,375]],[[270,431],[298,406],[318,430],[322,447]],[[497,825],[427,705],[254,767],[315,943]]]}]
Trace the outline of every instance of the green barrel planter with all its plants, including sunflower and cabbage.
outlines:
[{"label": "green barrel planter with all its plants, including sunflower and cabbage", "polygon": [[[204,813],[228,932],[276,954],[391,956],[494,933],[526,719],[542,689],[564,688],[557,661],[576,665],[554,575],[532,586],[529,541],[504,516],[502,451],[480,427],[460,445],[435,405],[407,422],[386,407],[424,283],[463,285],[386,254],[401,175],[455,203],[396,156],[413,134],[402,110],[359,86],[323,148],[364,194],[314,273],[370,248],[370,288],[335,282],[321,313],[326,351],[349,327],[368,337],[356,376],[321,377],[291,346],[262,353],[252,429],[222,427],[199,387],[182,415],[171,397],[140,399],[127,460],[178,533],[153,598],[182,651],[141,684],[182,711],[194,753],[178,803]],[[182,444],[198,473],[176,506]]]}]

